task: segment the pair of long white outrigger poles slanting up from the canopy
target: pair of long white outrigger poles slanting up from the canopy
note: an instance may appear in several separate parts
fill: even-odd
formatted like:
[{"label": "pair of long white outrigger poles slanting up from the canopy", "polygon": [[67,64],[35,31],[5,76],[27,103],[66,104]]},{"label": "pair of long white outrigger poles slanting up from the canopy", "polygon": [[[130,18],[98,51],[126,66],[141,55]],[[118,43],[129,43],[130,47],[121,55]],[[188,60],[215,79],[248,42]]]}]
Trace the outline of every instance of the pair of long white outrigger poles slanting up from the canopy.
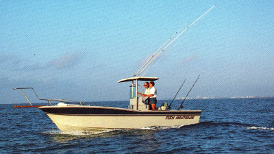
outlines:
[{"label": "pair of long white outrigger poles slanting up from the canopy", "polygon": [[[214,8],[215,7],[215,5],[213,5],[212,6],[212,8]],[[201,17],[203,17],[204,15],[206,15],[210,10],[212,10],[212,8],[210,8],[207,12],[205,12],[205,13],[203,13],[199,18],[197,18],[196,19],[196,21],[194,21],[193,23],[191,23],[188,27],[186,27],[186,29],[184,29],[184,31],[186,31],[189,27],[191,27],[193,24],[195,24],[197,21],[199,21],[199,19],[201,18]],[[181,28],[182,29],[182,28]],[[180,30],[180,29],[179,29]],[[184,33],[184,31],[182,31],[176,38],[174,38],[171,42],[169,42],[169,40],[171,40],[171,38],[167,41],[167,42],[169,42],[169,44],[167,44],[166,45],[166,47],[164,47],[164,49],[162,49],[162,51],[164,51],[167,47],[169,47],[169,45],[172,43],[172,42],[174,42],[180,35],[182,35],[183,33]],[[175,34],[177,34],[177,32],[175,33]],[[174,35],[175,35],[174,34]],[[173,35],[173,36],[174,36]],[[167,43],[166,42],[166,43]],[[164,43],[164,44],[166,44],[166,43]],[[164,45],[162,45],[162,47],[163,47]],[[162,48],[162,47],[160,47],[160,49]],[[158,49],[158,51],[160,50],[160,49]],[[145,62],[145,64],[140,68],[140,70],[138,70],[138,72],[134,75],[134,77],[138,77],[139,75],[140,75],[140,73],[142,73],[142,71],[144,71],[145,70],[145,68],[147,68],[147,66],[149,66],[150,64],[151,64],[151,62],[153,62],[154,60],[155,60],[155,58],[156,57],[158,57],[158,55],[160,55],[160,53],[162,53],[162,51],[160,51],[159,53],[158,53],[158,51],[156,51],[152,56],[151,56],[151,58],[149,59],[149,60],[147,60],[147,62]],[[156,53],[158,53],[157,55],[155,55]],[[155,55],[155,56],[154,56]],[[153,57],[153,58],[152,58]]]}]

